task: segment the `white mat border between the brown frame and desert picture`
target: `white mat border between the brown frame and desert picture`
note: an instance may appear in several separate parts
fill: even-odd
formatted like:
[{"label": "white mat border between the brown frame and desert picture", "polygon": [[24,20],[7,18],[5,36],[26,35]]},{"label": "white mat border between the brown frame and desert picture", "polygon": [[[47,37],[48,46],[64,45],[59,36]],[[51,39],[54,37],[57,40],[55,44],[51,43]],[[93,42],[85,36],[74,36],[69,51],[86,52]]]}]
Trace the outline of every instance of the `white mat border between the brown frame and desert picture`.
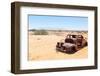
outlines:
[{"label": "white mat border between the brown frame and desert picture", "polygon": [[[48,61],[27,61],[28,14],[88,17],[88,58]],[[43,69],[94,65],[94,11],[21,7],[20,8],[20,69]]]}]

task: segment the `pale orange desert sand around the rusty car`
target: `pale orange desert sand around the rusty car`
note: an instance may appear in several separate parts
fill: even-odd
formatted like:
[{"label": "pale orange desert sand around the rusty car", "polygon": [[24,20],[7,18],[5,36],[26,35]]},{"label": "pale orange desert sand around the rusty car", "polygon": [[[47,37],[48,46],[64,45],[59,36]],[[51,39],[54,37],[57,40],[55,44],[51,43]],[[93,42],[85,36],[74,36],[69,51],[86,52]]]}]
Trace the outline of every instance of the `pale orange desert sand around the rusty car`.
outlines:
[{"label": "pale orange desert sand around the rusty car", "polygon": [[[84,35],[86,36],[86,35]],[[61,35],[32,35],[29,34],[28,60],[54,60],[87,58],[88,48],[84,47],[74,54],[57,52],[56,43],[65,38]]]}]

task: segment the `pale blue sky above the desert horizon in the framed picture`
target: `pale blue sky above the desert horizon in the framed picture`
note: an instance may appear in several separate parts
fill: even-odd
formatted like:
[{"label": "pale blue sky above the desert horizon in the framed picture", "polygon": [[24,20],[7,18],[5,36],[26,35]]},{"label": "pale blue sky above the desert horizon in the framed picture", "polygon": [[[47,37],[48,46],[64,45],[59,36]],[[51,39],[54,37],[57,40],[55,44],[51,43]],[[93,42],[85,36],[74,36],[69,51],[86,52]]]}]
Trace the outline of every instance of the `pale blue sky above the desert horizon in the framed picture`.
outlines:
[{"label": "pale blue sky above the desert horizon in the framed picture", "polygon": [[29,29],[88,30],[88,17],[29,15]]}]

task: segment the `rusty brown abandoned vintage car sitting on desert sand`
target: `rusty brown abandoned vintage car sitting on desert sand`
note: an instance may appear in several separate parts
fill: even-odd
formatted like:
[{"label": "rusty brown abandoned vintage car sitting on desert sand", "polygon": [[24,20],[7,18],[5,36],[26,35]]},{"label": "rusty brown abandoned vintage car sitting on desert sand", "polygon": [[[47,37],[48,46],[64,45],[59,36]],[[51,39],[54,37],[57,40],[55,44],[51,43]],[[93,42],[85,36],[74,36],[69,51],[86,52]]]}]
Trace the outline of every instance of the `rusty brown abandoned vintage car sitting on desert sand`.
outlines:
[{"label": "rusty brown abandoned vintage car sitting on desert sand", "polygon": [[82,35],[68,34],[64,42],[57,42],[56,50],[72,54],[85,46],[87,46],[87,41]]}]

